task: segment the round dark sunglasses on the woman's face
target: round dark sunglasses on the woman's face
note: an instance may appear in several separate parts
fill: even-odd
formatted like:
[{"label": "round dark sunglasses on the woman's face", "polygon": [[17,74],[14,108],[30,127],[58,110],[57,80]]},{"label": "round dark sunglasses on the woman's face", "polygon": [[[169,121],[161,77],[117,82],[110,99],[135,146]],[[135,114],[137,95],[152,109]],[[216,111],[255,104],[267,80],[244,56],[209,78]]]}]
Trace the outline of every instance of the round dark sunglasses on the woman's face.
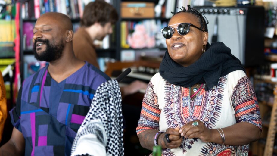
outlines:
[{"label": "round dark sunglasses on the woman's face", "polygon": [[[201,28],[191,24],[191,23],[178,23],[179,25],[177,26],[177,32],[180,34],[180,35],[186,35],[188,32],[189,32],[189,29],[190,29],[190,26],[192,27],[195,27],[203,32],[205,32],[204,30],[202,30]],[[173,24],[173,25],[177,25],[177,24]],[[173,26],[173,25],[170,25],[170,26]],[[174,28],[173,27],[170,27],[170,26],[167,26],[167,27],[164,27],[163,29],[161,29],[160,31],[162,32],[163,34],[163,37],[166,38],[166,39],[170,39],[174,33]]]}]

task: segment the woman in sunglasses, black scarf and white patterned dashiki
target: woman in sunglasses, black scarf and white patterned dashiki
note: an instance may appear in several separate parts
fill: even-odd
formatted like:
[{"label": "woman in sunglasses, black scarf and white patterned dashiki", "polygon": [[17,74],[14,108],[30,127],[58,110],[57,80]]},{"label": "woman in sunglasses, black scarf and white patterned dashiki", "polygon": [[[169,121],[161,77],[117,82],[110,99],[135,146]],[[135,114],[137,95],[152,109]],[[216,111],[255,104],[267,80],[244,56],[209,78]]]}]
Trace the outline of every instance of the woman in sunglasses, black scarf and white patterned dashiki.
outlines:
[{"label": "woman in sunglasses, black scarf and white patterned dashiki", "polygon": [[262,126],[241,62],[222,42],[207,42],[207,23],[189,5],[161,32],[167,51],[143,99],[141,145],[160,145],[163,155],[248,155]]}]

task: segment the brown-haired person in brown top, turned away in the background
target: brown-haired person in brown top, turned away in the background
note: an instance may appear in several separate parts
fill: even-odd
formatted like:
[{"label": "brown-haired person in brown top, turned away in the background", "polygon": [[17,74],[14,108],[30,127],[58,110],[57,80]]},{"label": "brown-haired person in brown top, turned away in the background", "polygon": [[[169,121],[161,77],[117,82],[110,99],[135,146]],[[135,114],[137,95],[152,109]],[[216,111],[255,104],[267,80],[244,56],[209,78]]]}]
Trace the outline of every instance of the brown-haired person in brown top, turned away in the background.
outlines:
[{"label": "brown-haired person in brown top, turned away in the background", "polygon": [[[102,41],[113,33],[112,26],[118,20],[115,8],[104,0],[96,0],[85,6],[81,27],[74,33],[73,51],[77,58],[87,61],[99,69],[93,42]],[[130,85],[120,87],[122,97],[146,89],[147,84],[134,81]]]}]

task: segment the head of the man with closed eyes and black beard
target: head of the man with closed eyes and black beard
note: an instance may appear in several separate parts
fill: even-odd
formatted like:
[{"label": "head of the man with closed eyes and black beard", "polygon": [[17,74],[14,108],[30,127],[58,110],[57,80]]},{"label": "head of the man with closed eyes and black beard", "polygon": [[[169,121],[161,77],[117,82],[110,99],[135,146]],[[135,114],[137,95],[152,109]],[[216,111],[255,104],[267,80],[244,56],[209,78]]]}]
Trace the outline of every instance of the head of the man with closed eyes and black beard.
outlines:
[{"label": "head of the man with closed eyes and black beard", "polygon": [[64,14],[48,12],[39,17],[33,29],[35,58],[52,62],[72,52],[72,28],[71,20]]}]

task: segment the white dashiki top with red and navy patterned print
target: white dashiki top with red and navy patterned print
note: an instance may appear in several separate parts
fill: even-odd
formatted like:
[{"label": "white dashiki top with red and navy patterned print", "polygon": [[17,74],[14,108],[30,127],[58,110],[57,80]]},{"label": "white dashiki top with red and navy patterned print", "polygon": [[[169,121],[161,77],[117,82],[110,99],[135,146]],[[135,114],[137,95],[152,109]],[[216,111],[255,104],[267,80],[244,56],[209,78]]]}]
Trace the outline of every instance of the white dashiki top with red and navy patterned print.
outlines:
[{"label": "white dashiki top with red and navy patterned print", "polygon": [[[201,120],[209,129],[239,122],[249,122],[262,129],[256,94],[246,74],[236,70],[220,77],[217,86],[208,91],[202,88],[193,101],[189,88],[170,84],[159,73],[155,74],[145,91],[137,134],[148,129],[166,131],[194,120]],[[229,146],[183,138],[180,147],[165,149],[162,154],[247,156],[248,150],[249,144]]]}]

